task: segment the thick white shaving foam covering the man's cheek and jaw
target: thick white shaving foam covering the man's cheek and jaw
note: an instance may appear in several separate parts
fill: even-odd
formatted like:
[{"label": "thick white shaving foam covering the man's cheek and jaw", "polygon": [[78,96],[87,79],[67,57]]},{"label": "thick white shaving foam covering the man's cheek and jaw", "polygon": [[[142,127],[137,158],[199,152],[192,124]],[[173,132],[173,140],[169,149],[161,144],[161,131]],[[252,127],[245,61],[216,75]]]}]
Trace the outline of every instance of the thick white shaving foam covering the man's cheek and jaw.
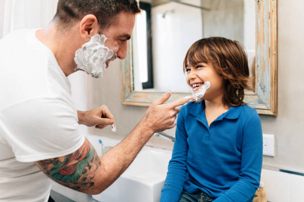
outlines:
[{"label": "thick white shaving foam covering the man's cheek and jaw", "polygon": [[[92,77],[99,78],[106,71],[106,62],[116,59],[117,55],[113,50],[104,46],[107,38],[104,35],[96,34],[90,41],[82,45],[81,49],[75,52],[75,70],[82,70]],[[108,61],[108,62],[109,62]]]}]

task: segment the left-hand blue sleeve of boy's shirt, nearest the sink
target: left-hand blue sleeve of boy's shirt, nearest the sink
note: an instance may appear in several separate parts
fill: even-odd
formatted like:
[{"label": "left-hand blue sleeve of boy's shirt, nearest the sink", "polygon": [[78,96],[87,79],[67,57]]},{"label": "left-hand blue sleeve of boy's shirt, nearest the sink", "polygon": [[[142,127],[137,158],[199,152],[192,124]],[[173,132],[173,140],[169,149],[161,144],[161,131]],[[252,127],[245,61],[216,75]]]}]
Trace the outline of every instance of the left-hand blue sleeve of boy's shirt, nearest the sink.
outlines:
[{"label": "left-hand blue sleeve of boy's shirt, nearest the sink", "polygon": [[183,106],[177,117],[175,141],[172,158],[169,161],[164,188],[161,190],[160,202],[178,202],[183,191],[186,177],[186,159],[188,152],[187,134],[185,130],[186,106]]}]

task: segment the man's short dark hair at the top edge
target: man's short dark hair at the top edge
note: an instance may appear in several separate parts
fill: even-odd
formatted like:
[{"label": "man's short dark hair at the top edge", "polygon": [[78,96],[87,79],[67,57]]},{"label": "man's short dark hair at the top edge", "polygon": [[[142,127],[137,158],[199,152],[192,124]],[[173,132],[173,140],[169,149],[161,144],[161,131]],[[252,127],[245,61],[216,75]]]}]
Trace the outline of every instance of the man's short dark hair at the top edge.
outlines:
[{"label": "man's short dark hair at the top edge", "polygon": [[69,25],[87,14],[93,14],[100,27],[106,29],[122,11],[141,12],[136,0],[59,0],[54,19]]}]

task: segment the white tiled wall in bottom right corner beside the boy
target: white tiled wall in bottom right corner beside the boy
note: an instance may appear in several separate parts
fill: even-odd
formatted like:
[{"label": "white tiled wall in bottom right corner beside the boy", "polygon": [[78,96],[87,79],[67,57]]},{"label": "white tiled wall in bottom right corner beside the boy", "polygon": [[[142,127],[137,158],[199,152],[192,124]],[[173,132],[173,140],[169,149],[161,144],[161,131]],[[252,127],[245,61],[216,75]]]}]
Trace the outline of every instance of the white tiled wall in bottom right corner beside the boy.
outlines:
[{"label": "white tiled wall in bottom right corner beside the boy", "polygon": [[268,202],[304,202],[304,176],[262,169]]}]

